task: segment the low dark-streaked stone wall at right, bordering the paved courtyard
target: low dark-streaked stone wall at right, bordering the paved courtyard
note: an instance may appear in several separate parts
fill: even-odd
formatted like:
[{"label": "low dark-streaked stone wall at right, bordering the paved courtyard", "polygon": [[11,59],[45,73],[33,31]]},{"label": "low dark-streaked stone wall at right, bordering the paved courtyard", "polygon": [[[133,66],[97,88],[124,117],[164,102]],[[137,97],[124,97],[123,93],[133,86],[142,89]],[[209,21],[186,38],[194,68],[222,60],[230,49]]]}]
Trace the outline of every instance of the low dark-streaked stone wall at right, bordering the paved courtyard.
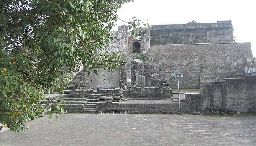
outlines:
[{"label": "low dark-streaked stone wall at right, bordering the paved courtyard", "polygon": [[256,112],[256,76],[231,76],[200,88],[202,111],[210,105],[221,111]]}]

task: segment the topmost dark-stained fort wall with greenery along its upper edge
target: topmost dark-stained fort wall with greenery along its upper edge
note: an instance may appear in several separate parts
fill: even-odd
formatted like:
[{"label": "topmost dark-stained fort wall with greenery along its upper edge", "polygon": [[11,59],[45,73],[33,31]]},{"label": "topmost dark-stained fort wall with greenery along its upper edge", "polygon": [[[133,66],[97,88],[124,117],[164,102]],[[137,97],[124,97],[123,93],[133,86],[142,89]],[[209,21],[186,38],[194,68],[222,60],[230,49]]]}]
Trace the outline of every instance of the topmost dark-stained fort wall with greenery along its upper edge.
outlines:
[{"label": "topmost dark-stained fort wall with greenery along its upper edge", "polygon": [[152,25],[151,28],[151,46],[233,42],[231,20],[217,23]]}]

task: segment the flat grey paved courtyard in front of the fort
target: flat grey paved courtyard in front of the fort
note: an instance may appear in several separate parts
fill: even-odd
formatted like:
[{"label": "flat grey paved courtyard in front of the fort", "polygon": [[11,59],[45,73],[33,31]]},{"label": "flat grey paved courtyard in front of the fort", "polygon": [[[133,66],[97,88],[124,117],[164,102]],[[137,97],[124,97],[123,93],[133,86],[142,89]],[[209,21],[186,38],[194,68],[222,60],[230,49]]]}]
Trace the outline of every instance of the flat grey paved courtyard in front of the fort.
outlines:
[{"label": "flat grey paved courtyard in front of the fort", "polygon": [[0,146],[253,146],[256,116],[65,114],[0,133]]}]

